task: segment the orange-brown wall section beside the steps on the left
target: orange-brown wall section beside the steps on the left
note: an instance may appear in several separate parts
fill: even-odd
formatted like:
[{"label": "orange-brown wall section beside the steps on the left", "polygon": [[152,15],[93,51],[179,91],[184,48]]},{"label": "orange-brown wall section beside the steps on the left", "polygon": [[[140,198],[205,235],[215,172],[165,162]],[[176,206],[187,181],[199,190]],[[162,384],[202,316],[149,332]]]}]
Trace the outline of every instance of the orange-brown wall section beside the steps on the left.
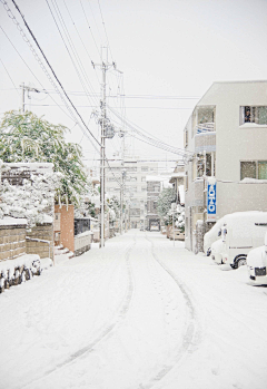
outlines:
[{"label": "orange-brown wall section beside the steps on the left", "polygon": [[[55,205],[55,214],[60,213],[60,244],[75,252],[75,206]],[[55,231],[56,232],[56,231]]]}]

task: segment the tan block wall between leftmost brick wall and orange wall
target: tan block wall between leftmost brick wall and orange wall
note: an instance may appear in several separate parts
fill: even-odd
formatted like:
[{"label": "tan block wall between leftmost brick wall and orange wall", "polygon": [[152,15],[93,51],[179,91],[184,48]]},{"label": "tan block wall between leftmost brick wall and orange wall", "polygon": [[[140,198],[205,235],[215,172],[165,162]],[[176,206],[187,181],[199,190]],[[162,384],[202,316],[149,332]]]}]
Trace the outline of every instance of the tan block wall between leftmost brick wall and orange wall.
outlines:
[{"label": "tan block wall between leftmost brick wall and orange wall", "polygon": [[44,242],[34,242],[31,240],[26,240],[27,254],[38,254],[40,259],[42,257],[53,257],[53,226],[50,223],[38,224],[27,233],[28,237],[44,240],[50,242],[50,253],[49,244]]}]

